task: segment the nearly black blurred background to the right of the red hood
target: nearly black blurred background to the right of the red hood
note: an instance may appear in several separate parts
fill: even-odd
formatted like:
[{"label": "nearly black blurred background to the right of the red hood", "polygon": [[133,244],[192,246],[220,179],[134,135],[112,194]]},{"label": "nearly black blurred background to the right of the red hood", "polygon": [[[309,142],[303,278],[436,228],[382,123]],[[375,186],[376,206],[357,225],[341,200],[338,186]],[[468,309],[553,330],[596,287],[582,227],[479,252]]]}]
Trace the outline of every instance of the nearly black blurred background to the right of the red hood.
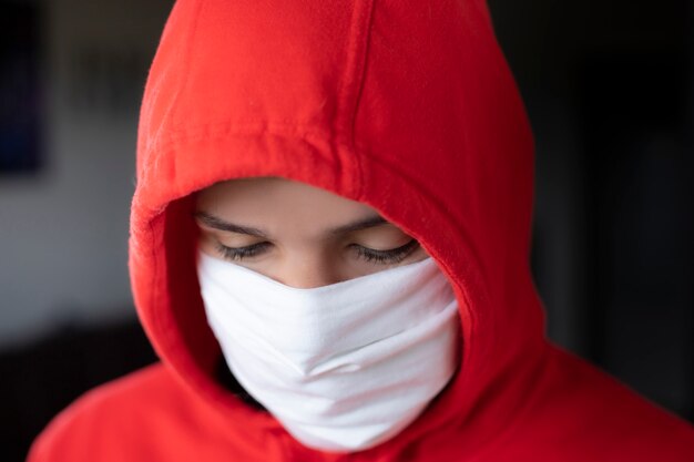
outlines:
[{"label": "nearly black blurred background to the right of the red hood", "polygon": [[548,333],[694,420],[694,2],[489,6],[535,134]]}]

